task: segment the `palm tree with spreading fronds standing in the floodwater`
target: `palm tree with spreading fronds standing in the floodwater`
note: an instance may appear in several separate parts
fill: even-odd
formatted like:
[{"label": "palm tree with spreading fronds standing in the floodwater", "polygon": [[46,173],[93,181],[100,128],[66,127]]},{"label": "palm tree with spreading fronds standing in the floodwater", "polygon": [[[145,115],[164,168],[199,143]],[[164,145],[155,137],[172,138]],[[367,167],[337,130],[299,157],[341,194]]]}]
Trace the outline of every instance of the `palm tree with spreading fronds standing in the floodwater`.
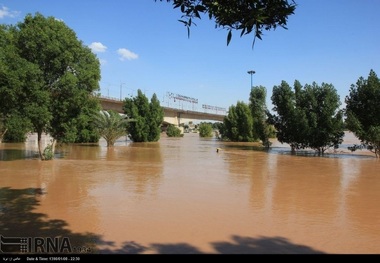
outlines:
[{"label": "palm tree with spreading fronds standing in the floodwater", "polygon": [[100,111],[95,116],[94,124],[99,135],[106,140],[107,147],[112,147],[118,138],[127,135],[127,125],[131,121],[127,115],[115,111]]}]

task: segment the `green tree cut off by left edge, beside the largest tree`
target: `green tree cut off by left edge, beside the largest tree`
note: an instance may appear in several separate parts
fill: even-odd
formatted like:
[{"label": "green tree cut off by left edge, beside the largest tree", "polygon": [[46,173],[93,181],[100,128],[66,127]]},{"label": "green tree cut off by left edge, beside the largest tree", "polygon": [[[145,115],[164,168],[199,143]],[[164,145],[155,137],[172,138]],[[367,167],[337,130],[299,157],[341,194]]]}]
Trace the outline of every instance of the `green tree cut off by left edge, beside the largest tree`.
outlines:
[{"label": "green tree cut off by left edge, beside the largest tree", "polygon": [[44,95],[42,72],[20,56],[18,33],[15,26],[0,26],[0,112],[8,128],[4,139],[9,142],[25,141],[26,133],[33,129],[29,124],[34,114],[40,112],[40,119],[51,117],[45,116],[46,108],[39,105],[39,97]]}]

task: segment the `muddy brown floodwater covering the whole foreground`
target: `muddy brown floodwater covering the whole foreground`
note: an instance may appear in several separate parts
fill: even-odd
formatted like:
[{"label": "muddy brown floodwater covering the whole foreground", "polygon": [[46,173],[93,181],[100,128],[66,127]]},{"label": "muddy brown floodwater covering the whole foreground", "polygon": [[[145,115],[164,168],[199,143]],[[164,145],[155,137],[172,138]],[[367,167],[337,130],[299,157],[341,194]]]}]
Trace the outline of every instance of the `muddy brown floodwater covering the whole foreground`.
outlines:
[{"label": "muddy brown floodwater covering the whole foreground", "polygon": [[91,253],[380,253],[380,161],[352,143],[315,157],[163,134],[42,162],[30,136],[0,144],[0,234]]}]

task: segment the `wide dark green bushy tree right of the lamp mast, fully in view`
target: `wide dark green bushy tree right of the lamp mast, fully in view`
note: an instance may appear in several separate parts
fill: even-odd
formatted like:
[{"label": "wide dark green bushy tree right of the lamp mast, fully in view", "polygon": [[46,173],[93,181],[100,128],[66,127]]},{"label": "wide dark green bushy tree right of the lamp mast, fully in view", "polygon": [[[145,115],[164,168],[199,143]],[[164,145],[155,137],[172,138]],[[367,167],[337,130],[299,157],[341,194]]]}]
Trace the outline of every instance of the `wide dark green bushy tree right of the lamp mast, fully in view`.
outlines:
[{"label": "wide dark green bushy tree right of the lamp mast, fully in view", "polygon": [[272,102],[277,115],[271,115],[270,122],[278,140],[290,144],[292,150],[312,148],[323,154],[342,143],[343,112],[333,85],[314,82],[302,88],[295,81],[293,92],[283,81],[273,88]]}]

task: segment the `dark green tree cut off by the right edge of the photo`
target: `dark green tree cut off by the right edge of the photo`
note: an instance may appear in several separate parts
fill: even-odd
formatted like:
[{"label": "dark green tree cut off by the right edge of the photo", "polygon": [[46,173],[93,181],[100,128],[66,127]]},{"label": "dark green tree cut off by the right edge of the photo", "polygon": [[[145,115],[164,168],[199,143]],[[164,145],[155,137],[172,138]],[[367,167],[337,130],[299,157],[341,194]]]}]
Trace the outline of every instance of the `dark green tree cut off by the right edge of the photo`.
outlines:
[{"label": "dark green tree cut off by the right edge of the photo", "polygon": [[370,151],[380,156],[380,79],[371,69],[368,78],[351,85],[346,102],[346,125]]}]

